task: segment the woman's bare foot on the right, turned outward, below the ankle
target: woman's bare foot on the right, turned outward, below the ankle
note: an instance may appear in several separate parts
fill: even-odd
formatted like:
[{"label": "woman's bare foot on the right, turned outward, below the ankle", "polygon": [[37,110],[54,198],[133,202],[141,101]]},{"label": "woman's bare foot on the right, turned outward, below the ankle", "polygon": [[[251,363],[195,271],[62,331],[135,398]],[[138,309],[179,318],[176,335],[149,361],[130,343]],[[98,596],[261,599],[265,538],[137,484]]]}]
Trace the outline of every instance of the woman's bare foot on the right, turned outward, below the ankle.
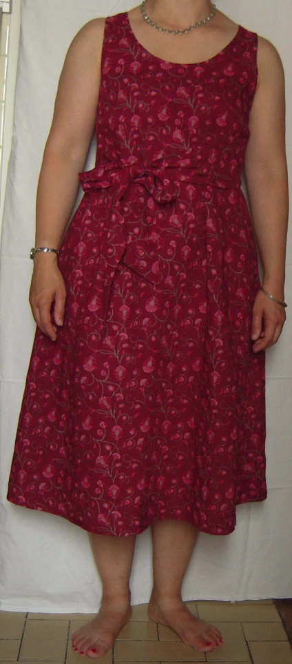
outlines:
[{"label": "woman's bare foot on the right, turned outward, below the ankle", "polygon": [[213,625],[193,616],[180,599],[159,600],[152,593],[148,615],[156,623],[171,627],[183,643],[199,652],[209,652],[222,644],[222,635]]}]

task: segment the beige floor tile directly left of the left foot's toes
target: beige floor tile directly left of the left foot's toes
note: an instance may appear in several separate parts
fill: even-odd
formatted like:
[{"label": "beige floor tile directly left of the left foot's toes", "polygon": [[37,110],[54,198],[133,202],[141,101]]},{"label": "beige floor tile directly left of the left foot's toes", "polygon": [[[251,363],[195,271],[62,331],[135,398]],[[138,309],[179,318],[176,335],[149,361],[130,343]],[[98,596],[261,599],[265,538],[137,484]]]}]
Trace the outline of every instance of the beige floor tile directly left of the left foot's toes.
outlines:
[{"label": "beige floor tile directly left of the left foot's toes", "polygon": [[69,621],[27,621],[19,661],[58,661],[65,658]]}]

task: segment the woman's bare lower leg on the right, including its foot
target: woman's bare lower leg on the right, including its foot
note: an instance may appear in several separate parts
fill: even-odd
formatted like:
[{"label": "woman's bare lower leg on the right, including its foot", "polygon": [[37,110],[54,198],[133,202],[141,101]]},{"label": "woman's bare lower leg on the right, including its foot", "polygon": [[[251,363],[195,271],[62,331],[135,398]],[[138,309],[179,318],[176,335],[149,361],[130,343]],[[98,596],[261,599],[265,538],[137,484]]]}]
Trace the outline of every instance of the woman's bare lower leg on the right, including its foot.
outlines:
[{"label": "woman's bare lower leg on the right, including its foot", "polygon": [[220,645],[222,636],[217,627],[193,616],[181,597],[197,538],[198,529],[187,521],[166,519],[152,523],[154,584],[148,613],[149,618],[169,625],[184,643],[201,652]]}]

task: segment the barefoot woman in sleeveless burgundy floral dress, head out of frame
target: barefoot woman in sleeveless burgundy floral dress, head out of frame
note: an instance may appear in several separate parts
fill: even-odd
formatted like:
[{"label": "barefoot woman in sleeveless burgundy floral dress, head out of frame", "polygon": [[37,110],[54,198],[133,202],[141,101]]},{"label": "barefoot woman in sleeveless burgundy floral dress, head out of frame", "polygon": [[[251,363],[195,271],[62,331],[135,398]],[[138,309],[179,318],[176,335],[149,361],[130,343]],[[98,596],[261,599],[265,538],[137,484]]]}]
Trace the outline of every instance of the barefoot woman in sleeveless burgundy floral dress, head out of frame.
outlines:
[{"label": "barefoot woman in sleeveless burgundy floral dress, head out of frame", "polygon": [[[37,328],[8,488],[12,503],[89,532],[103,598],[72,645],[95,658],[129,621],[134,543],[149,525],[149,617],[198,651],[222,643],[181,586],[198,533],[229,534],[238,503],[267,498],[265,350],[285,321],[278,52],[209,0],[146,9],[90,21],[67,52],[37,192]],[[96,167],[81,172],[95,123]],[[78,174],[85,195],[66,229]]]}]

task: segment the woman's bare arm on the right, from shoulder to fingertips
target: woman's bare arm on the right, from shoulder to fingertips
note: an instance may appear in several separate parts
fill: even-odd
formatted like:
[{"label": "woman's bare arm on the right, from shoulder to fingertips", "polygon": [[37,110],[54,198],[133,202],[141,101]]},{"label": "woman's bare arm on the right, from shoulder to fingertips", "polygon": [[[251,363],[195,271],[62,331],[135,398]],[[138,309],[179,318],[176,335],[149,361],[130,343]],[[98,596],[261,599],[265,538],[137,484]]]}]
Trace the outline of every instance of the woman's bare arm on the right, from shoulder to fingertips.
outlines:
[{"label": "woman's bare arm on the right, from shoulder to fingertips", "polygon": [[[262,285],[271,295],[284,301],[289,216],[284,71],[278,51],[263,37],[258,38],[258,88],[249,130],[244,175],[264,269]],[[278,341],[285,319],[284,308],[260,291],[255,300],[252,331],[257,338],[262,333],[264,339],[258,339],[253,350],[263,350]]]}]

